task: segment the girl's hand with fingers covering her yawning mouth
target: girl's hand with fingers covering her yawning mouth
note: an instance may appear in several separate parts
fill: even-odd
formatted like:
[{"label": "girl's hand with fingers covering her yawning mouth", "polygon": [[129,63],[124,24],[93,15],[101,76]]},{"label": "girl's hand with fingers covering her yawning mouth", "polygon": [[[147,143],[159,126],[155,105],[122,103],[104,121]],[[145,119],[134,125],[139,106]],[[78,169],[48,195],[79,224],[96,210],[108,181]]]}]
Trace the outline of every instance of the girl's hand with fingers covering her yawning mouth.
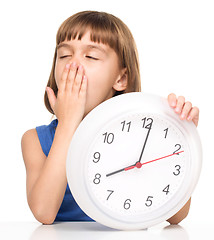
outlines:
[{"label": "girl's hand with fingers covering her yawning mouth", "polygon": [[86,105],[87,78],[83,66],[68,63],[58,84],[57,98],[53,89],[46,88],[51,108],[59,124],[78,127],[83,119]]}]

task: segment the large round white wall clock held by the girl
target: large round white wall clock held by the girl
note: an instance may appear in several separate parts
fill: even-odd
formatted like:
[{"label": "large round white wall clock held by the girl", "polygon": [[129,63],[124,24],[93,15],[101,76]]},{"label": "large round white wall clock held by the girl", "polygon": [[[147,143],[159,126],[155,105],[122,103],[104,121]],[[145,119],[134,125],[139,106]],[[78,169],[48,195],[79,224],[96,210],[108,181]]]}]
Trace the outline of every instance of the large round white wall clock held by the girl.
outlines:
[{"label": "large round white wall clock held by the girl", "polygon": [[113,97],[77,128],[67,179],[80,208],[111,228],[134,230],[179,211],[198,181],[199,135],[165,98],[146,93]]}]

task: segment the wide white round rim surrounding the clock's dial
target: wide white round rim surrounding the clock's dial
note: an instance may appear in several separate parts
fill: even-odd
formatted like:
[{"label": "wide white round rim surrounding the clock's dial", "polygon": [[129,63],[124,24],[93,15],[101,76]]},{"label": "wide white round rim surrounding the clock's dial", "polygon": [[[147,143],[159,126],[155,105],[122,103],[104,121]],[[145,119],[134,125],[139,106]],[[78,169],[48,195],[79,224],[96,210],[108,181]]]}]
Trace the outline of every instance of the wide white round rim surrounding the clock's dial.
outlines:
[{"label": "wide white round rim surrounding the clock's dial", "polygon": [[[86,181],[85,160],[88,150],[97,132],[109,121],[126,113],[151,113],[161,115],[173,122],[184,133],[189,144],[191,159],[189,182],[186,188],[176,193],[177,200],[169,201],[158,213],[158,218],[147,219],[145,222],[131,223],[119,220],[103,211],[100,204],[89,193]],[[167,220],[178,212],[191,197],[198,182],[202,165],[202,147],[200,137],[192,122],[182,121],[163,97],[142,92],[126,93],[113,97],[94,108],[80,123],[69,146],[66,172],[68,184],[80,208],[95,221],[111,228],[136,230],[151,227]],[[184,189],[185,188],[185,189]]]}]

